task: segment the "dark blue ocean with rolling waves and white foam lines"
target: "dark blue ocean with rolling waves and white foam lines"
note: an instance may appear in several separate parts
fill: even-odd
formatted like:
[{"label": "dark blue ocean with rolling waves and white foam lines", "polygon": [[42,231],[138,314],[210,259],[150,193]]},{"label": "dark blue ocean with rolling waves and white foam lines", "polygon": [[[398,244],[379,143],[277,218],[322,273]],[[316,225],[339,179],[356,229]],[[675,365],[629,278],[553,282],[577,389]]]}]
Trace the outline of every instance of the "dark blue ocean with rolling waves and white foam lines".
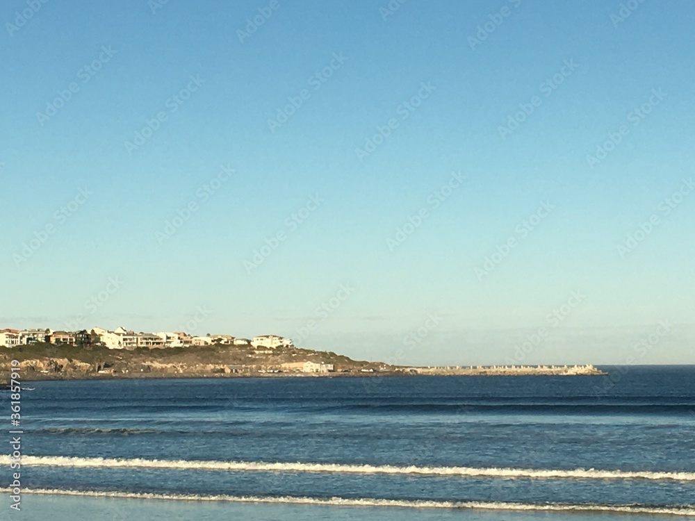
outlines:
[{"label": "dark blue ocean with rolling waves and white foam lines", "polygon": [[695,366],[602,368],[24,383],[0,519],[695,519]]}]

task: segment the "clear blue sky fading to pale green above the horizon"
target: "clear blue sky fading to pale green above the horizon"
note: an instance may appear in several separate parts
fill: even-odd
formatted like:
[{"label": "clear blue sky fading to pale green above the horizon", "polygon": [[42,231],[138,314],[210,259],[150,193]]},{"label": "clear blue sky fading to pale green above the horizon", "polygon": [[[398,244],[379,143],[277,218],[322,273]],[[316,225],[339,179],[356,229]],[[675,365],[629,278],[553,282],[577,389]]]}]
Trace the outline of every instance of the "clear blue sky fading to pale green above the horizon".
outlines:
[{"label": "clear blue sky fading to pale green above the horizon", "polygon": [[695,363],[695,5],[600,4],[3,3],[0,328]]}]

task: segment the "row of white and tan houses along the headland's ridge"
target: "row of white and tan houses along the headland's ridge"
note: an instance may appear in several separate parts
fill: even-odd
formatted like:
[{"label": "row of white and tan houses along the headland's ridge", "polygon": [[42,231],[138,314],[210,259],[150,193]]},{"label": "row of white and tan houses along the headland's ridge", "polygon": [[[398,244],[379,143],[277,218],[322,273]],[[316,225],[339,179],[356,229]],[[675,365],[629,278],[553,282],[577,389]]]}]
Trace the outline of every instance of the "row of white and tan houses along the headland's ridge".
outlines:
[{"label": "row of white and tan houses along the headland's ridge", "polygon": [[138,347],[163,348],[163,347],[188,347],[205,345],[237,345],[250,346],[254,349],[279,347],[292,347],[293,342],[289,338],[277,335],[254,336],[248,338],[236,338],[230,335],[190,336],[183,331],[163,331],[160,333],[136,333],[118,327],[108,331],[95,327],[91,331],[52,331],[51,329],[2,329],[0,330],[0,346],[16,347],[28,345],[33,342],[48,342],[51,344],[90,345],[101,343],[108,349],[136,349]]}]

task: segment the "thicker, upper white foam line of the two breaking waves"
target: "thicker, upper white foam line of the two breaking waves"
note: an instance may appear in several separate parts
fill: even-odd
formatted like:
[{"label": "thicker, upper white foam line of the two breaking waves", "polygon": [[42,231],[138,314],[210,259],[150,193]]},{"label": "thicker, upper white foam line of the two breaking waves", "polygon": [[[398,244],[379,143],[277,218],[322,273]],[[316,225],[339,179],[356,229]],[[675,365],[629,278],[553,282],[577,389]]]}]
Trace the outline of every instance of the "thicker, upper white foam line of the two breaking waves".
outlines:
[{"label": "thicker, upper white foam line of the two breaking waves", "polygon": [[[0,456],[8,465],[10,456]],[[256,472],[327,472],[332,474],[416,474],[423,476],[532,478],[532,479],[649,479],[695,481],[695,472],[652,472],[632,470],[548,470],[473,467],[398,467],[395,465],[341,465],[338,463],[264,463],[254,461],[197,461],[120,458],[76,458],[67,456],[22,456],[22,465],[76,468],[165,468],[183,470],[231,470]]]}]

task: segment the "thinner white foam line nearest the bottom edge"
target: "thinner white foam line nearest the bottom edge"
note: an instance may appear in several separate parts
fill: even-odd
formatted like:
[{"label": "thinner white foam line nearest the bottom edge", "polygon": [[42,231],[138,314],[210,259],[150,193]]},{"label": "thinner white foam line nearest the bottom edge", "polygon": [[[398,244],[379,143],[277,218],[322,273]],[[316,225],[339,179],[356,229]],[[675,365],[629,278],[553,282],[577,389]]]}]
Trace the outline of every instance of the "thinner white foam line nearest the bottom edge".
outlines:
[{"label": "thinner white foam line nearest the bottom edge", "polygon": [[168,499],[174,501],[210,501],[235,503],[267,503],[325,506],[391,506],[400,508],[467,508],[502,511],[555,511],[555,512],[616,512],[653,515],[695,515],[695,506],[648,506],[648,505],[608,505],[608,504],[534,504],[503,502],[457,502],[427,501],[408,499],[375,499],[362,497],[350,499],[345,497],[263,497],[232,495],[194,495],[194,494],[152,494],[136,492],[115,492],[99,490],[59,490],[59,489],[24,489],[25,493],[44,495],[69,495],[87,497],[111,497],[123,499]]}]

